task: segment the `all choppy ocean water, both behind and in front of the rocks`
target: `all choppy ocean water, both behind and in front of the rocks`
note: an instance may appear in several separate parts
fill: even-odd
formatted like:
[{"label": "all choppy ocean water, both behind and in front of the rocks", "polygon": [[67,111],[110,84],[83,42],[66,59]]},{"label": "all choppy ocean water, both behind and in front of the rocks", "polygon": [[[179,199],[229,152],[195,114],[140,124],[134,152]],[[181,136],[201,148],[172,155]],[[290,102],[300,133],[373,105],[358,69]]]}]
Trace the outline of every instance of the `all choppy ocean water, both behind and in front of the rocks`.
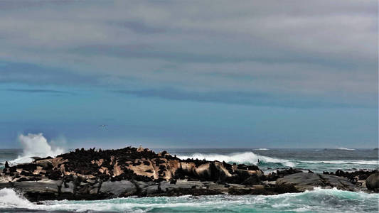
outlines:
[{"label": "all choppy ocean water, both behind and in front of the rocks", "polygon": [[[181,148],[166,151],[178,158],[256,164],[265,173],[281,168],[318,173],[379,169],[378,150],[373,149]],[[0,149],[1,163],[5,160],[20,163],[28,157],[19,149]],[[0,190],[0,212],[378,212],[378,202],[379,194],[375,193],[316,188],[282,195],[127,197],[96,201],[51,200],[36,204],[14,190]]]}]

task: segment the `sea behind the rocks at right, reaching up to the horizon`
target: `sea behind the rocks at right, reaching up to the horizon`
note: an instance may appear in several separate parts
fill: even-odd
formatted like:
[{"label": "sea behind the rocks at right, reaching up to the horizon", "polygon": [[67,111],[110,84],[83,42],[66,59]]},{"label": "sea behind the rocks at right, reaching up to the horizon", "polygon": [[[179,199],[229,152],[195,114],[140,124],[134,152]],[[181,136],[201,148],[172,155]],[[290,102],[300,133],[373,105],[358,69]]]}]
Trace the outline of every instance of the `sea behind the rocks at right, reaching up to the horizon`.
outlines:
[{"label": "sea behind the rocks at right, reaching up to the horizon", "polygon": [[378,150],[350,148],[218,148],[218,149],[169,149],[178,158],[199,160],[220,160],[227,163],[258,165],[271,172],[277,168],[299,168],[316,173],[336,170],[353,171],[360,169],[377,170]]}]

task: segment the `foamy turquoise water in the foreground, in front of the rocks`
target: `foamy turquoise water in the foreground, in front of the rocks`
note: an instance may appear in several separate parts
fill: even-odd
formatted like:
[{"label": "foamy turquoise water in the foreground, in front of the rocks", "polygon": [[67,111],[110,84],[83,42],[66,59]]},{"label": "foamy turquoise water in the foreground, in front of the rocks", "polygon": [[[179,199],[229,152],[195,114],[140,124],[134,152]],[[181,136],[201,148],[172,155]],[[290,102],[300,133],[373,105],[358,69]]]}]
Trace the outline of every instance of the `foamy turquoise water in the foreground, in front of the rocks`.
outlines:
[{"label": "foamy turquoise water in the foreground, in front of the rocks", "polygon": [[282,195],[127,197],[34,204],[0,190],[0,211],[28,212],[378,212],[379,194],[336,189]]}]

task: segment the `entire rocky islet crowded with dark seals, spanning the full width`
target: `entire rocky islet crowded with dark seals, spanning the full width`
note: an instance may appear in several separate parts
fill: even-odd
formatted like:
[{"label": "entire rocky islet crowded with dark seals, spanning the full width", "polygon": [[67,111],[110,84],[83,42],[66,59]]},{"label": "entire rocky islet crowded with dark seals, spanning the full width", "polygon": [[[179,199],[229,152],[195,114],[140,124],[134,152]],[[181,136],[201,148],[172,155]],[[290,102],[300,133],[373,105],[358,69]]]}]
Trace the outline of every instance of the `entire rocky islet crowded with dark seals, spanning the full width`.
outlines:
[{"label": "entire rocky islet crowded with dark seals, spanning the full width", "polygon": [[33,163],[5,164],[0,189],[14,188],[33,202],[102,200],[115,197],[179,195],[277,195],[314,187],[348,191],[379,190],[376,170],[317,174],[277,170],[265,175],[256,165],[179,159],[166,151],[127,147],[76,149]]}]

